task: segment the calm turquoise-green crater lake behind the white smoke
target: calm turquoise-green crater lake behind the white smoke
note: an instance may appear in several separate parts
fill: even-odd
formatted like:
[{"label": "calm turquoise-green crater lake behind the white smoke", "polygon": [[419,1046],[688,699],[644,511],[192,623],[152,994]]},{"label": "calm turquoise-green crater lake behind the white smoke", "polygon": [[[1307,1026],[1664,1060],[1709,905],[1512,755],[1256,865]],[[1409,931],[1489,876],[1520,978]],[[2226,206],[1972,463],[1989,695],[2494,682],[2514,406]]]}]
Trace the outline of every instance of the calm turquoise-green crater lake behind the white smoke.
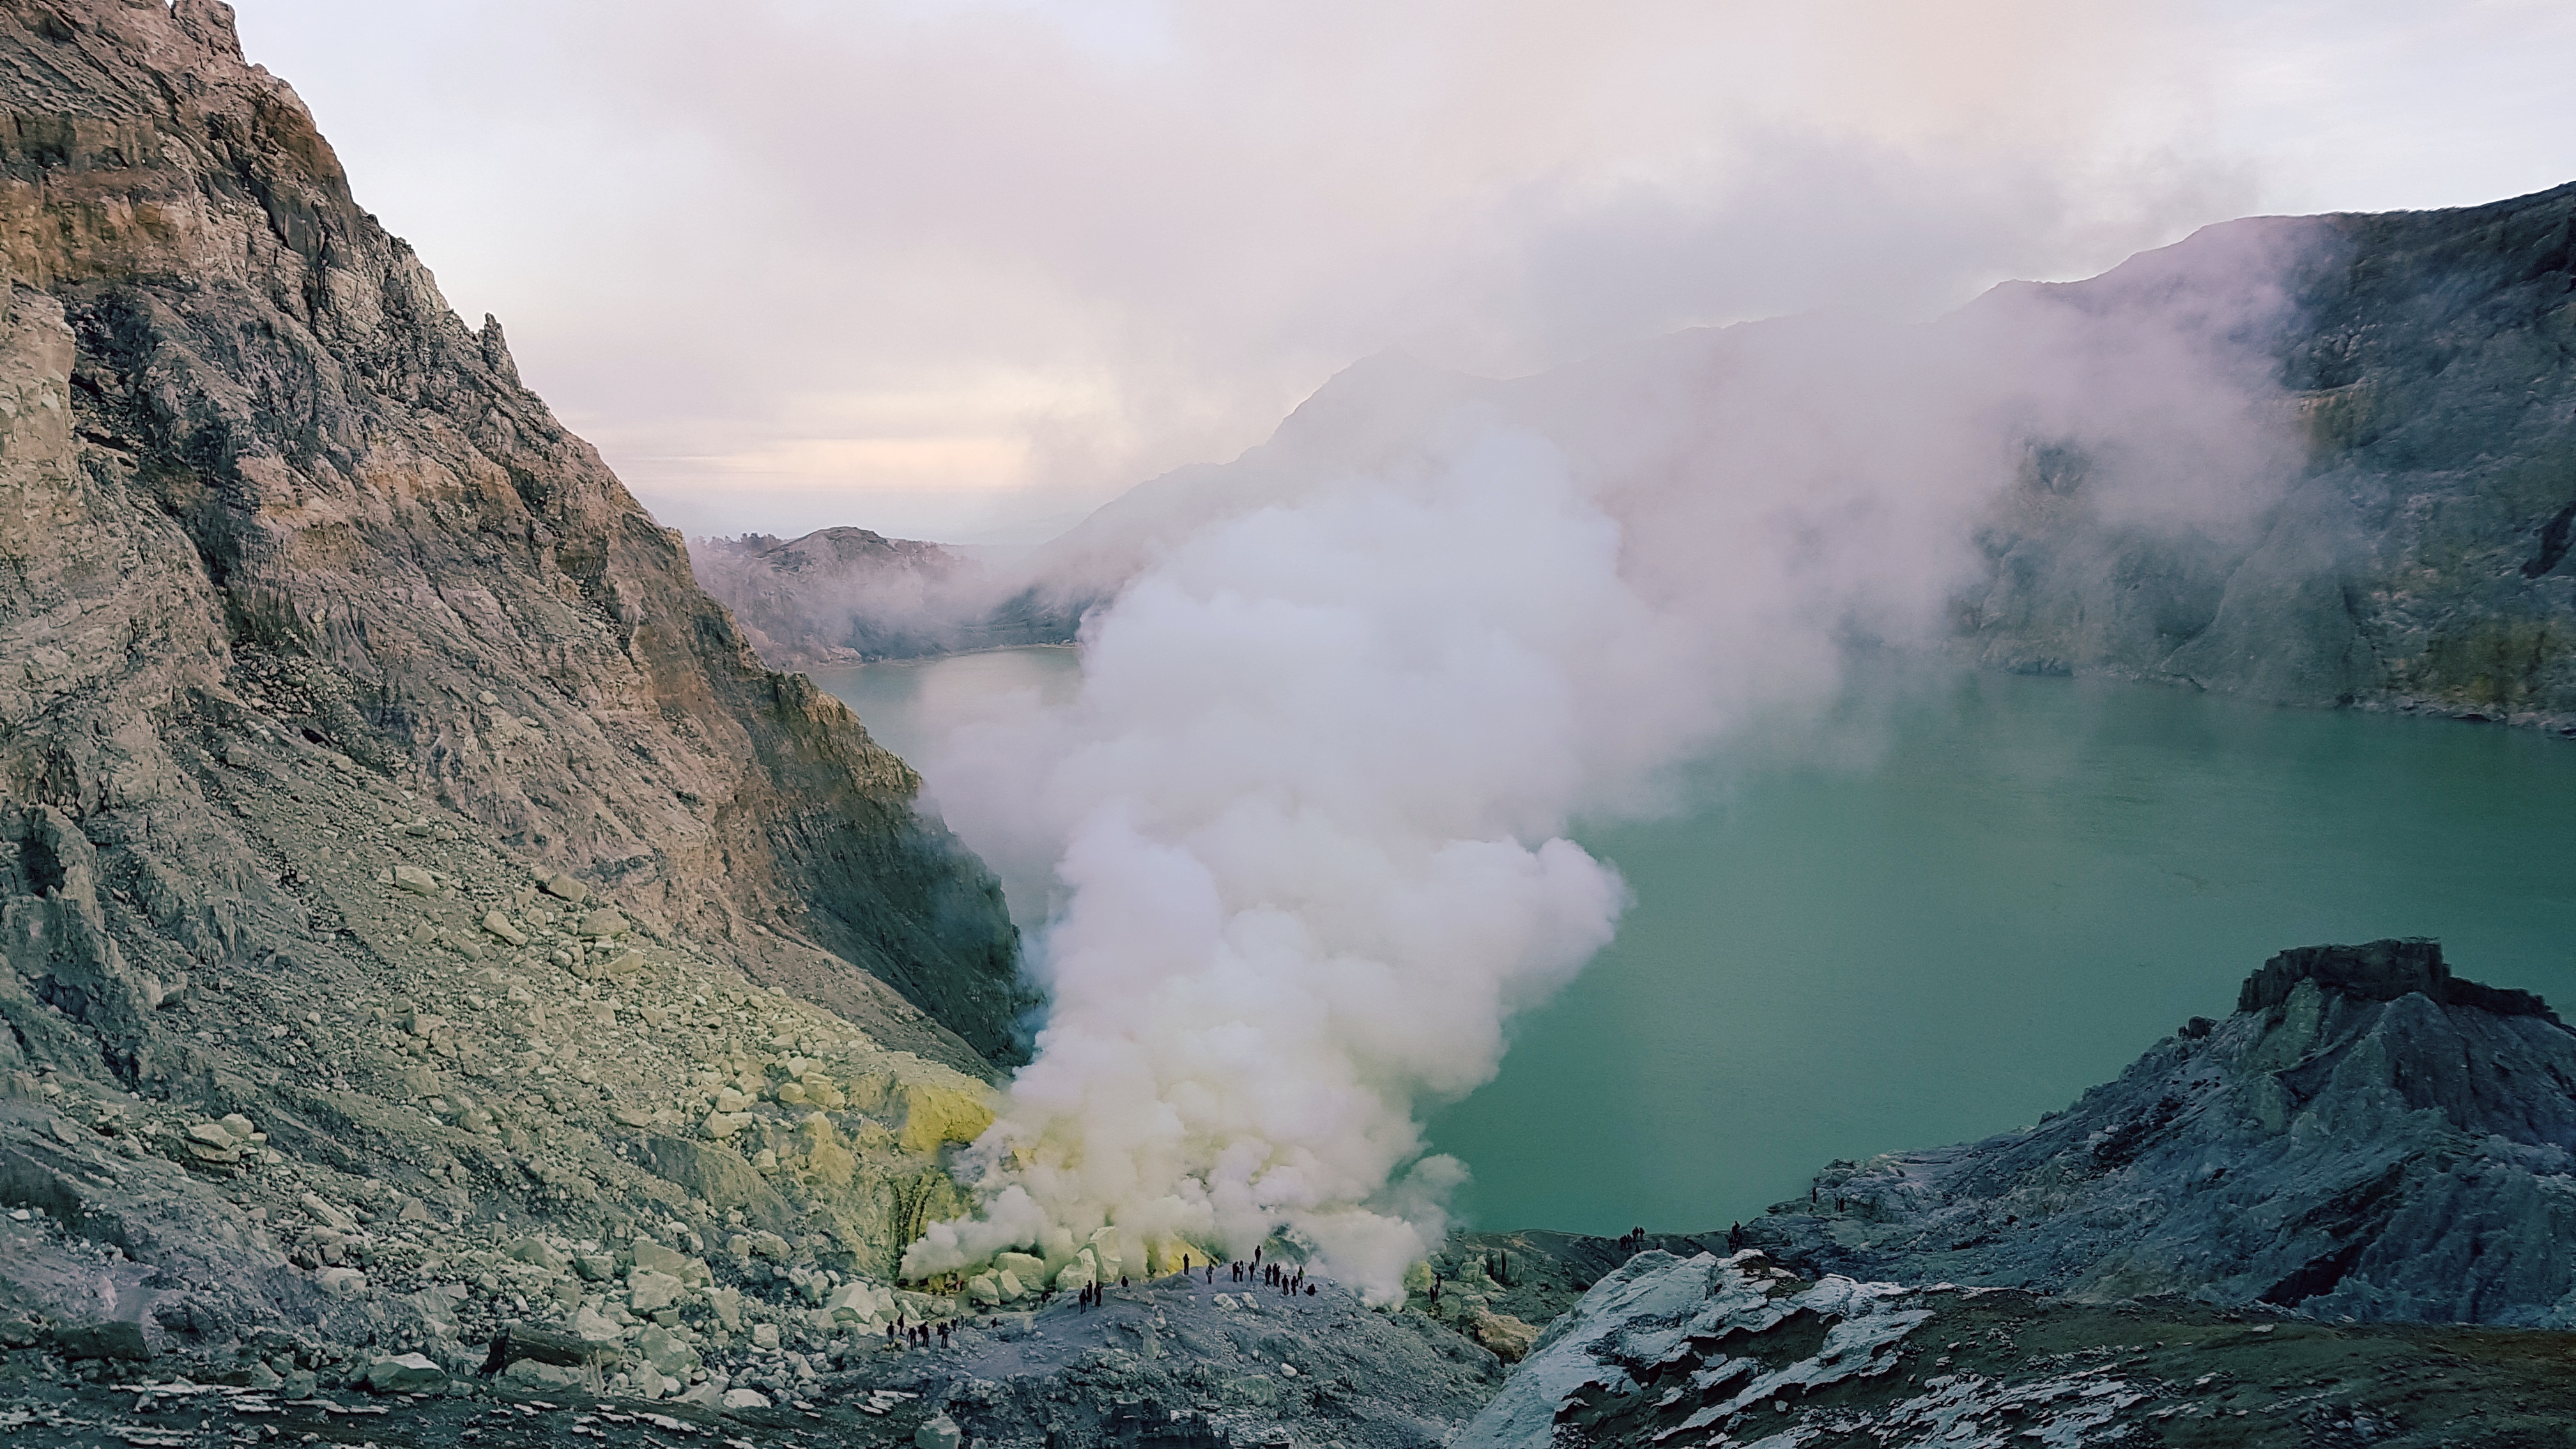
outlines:
[{"label": "calm turquoise-green crater lake behind the white smoke", "polygon": [[[814,678],[917,761],[1077,668]],[[1798,735],[1703,761],[1669,817],[1577,828],[1636,905],[1430,1119],[1468,1217],[1723,1227],[1832,1158],[2066,1106],[2282,946],[2437,936],[2460,975],[2576,1006],[2576,743],[1950,673],[1873,676]]]}]

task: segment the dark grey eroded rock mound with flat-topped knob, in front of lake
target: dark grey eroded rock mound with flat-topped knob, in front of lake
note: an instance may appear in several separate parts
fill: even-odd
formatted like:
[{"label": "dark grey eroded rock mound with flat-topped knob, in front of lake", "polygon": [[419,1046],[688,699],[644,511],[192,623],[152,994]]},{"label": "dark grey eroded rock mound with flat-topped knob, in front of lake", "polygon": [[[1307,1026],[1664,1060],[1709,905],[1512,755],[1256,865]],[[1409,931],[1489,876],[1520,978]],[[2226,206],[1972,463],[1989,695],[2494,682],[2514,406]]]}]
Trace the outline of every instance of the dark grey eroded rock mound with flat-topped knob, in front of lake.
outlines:
[{"label": "dark grey eroded rock mound with flat-topped knob, in front of lake", "polygon": [[1826,1168],[1747,1240],[1814,1271],[2576,1325],[2576,1034],[2432,941],[2282,951],[2226,1021],[1986,1142]]}]

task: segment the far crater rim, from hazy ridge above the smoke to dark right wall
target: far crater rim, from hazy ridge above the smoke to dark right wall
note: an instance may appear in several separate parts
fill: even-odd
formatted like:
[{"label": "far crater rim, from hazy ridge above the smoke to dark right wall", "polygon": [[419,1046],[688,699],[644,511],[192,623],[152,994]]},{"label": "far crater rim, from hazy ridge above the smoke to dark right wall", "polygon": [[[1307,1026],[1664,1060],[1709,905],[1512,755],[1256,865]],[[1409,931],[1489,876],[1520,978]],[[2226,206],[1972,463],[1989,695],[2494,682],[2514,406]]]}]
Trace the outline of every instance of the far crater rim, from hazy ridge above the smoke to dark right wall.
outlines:
[{"label": "far crater rim, from hazy ridge above the smoke to dark right wall", "polygon": [[[2030,302],[2112,317],[2244,286],[2282,258],[2280,304],[2241,338],[2303,456],[2231,529],[2125,518],[2099,462],[2030,438],[1953,598],[1960,657],[2306,706],[2576,732],[2576,183],[2450,211],[2259,217],[2205,227],[2074,284],[2007,284],[1935,335]],[[1741,387],[1795,320],[1680,333],[1525,379],[1365,358],[1226,464],[1175,469],[1038,549],[958,637],[1061,642],[1162,547],[1319,472],[1419,449],[1461,405],[1579,441],[1582,407]],[[1963,364],[1965,366],[1965,364]],[[1739,371],[1728,371],[1739,369]],[[1855,402],[1860,405],[1860,402]],[[989,634],[976,634],[989,629]]]}]

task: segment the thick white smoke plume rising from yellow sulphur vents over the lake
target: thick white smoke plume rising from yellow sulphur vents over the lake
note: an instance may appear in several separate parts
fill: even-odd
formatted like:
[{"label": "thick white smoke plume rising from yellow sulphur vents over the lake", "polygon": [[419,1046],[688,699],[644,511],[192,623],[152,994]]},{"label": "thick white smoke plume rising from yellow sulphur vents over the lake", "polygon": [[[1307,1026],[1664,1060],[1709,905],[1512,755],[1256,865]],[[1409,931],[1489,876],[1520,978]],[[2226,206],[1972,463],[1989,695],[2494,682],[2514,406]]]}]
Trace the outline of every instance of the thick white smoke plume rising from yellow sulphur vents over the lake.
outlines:
[{"label": "thick white smoke plume rising from yellow sulphur vents over the lake", "polygon": [[1285,1235],[1399,1297],[1463,1176],[1417,1106],[1489,1080],[1623,910],[1566,822],[1659,810],[1728,730],[1826,701],[1855,639],[1932,645],[1978,521],[2048,492],[2035,459],[2084,459],[2128,526],[2244,526],[2295,459],[2249,351],[2295,253],[2233,227],[1935,327],[1695,333],[1414,425],[1363,389],[1162,498],[1079,696],[925,761],[1061,897],[981,1207],[907,1271]]}]

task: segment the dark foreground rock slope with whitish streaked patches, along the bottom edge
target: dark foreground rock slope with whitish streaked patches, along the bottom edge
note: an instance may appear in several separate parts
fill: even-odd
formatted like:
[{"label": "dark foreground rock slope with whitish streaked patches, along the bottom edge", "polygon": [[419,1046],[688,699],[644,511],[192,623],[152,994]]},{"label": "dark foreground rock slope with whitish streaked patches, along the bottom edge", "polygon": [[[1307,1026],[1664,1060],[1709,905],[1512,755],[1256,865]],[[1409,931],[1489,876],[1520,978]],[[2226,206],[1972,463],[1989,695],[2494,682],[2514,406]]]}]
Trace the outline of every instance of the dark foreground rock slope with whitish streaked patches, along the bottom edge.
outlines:
[{"label": "dark foreground rock slope with whitish streaked patches, along the bottom edge", "polygon": [[1461,1449],[1631,1444],[2548,1444],[2563,1333],[1803,1281],[1643,1253],[1548,1330]]}]

